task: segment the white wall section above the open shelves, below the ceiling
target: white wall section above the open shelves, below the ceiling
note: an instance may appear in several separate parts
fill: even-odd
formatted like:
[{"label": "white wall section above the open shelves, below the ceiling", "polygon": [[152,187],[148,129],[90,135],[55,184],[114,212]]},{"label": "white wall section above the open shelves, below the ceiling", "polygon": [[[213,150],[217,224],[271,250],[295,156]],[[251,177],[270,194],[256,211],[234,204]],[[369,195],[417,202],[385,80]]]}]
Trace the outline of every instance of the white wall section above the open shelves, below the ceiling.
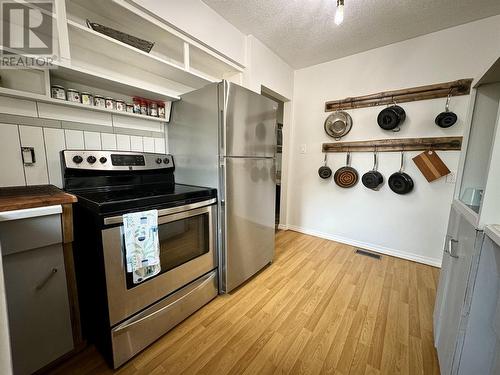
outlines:
[{"label": "white wall section above the open shelves, below the ceiling", "polygon": [[179,30],[245,65],[245,35],[201,0],[134,0]]}]

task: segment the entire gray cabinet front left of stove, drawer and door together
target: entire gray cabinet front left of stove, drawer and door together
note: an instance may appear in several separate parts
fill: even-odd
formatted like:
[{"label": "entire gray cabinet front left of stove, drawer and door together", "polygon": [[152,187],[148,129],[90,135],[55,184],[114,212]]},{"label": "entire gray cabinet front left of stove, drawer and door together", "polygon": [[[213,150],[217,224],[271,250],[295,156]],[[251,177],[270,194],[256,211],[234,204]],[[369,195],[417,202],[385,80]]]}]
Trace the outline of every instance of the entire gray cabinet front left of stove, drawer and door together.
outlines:
[{"label": "entire gray cabinet front left of stove, drawer and door together", "polygon": [[0,222],[0,240],[14,374],[31,374],[74,347],[60,214]]}]

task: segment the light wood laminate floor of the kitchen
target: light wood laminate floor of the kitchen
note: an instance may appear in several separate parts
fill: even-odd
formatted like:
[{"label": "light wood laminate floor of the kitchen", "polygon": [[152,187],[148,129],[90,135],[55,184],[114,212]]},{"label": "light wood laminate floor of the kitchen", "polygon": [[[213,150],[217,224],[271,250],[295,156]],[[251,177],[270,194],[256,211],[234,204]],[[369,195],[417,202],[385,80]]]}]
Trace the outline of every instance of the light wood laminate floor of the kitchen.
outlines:
[{"label": "light wood laminate floor of the kitchen", "polygon": [[[439,270],[278,232],[274,263],[219,296],[119,374],[439,374]],[[92,347],[54,374],[113,373]]]}]

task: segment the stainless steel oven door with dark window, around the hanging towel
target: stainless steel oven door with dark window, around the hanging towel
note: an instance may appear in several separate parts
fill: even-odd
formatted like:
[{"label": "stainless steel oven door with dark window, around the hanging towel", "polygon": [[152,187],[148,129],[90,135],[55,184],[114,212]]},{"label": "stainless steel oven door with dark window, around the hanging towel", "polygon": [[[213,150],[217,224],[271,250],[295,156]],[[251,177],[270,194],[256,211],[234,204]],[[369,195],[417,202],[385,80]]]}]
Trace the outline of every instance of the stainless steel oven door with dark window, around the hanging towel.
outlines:
[{"label": "stainless steel oven door with dark window, around the hanging towel", "polygon": [[[213,200],[158,211],[161,271],[134,284],[126,272],[123,225],[102,231],[111,326],[210,272],[217,266]],[[200,207],[203,204],[210,204]],[[197,208],[193,208],[197,207]],[[121,217],[106,218],[106,223]]]}]

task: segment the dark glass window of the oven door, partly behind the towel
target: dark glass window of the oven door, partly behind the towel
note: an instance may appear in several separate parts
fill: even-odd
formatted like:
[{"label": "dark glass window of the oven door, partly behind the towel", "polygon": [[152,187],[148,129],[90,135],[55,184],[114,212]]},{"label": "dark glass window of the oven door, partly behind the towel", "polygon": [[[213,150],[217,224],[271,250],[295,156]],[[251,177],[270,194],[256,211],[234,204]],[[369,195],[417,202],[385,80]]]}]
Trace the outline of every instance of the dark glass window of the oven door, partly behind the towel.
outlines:
[{"label": "dark glass window of the oven door, partly behind the towel", "polygon": [[[210,251],[210,217],[209,213],[190,216],[180,220],[158,225],[158,242],[160,244],[160,266],[158,275],[143,282],[153,280],[190,260]],[[123,248],[123,251],[125,249]],[[127,273],[127,288],[134,284],[132,273]]]}]

